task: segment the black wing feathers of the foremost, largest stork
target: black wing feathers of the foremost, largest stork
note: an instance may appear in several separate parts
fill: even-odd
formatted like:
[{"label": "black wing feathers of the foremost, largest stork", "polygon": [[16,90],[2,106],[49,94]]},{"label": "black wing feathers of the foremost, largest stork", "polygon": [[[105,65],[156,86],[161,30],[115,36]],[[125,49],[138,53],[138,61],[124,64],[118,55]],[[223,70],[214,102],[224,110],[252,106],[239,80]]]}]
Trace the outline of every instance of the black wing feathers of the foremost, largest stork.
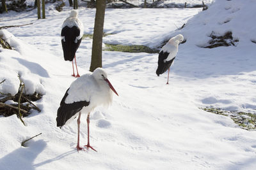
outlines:
[{"label": "black wing feathers of the foremost, largest stork", "polygon": [[60,128],[65,125],[68,119],[76,115],[77,112],[81,111],[84,106],[88,106],[90,104],[90,101],[79,101],[70,104],[65,103],[65,99],[68,96],[68,90],[61,100],[60,108],[58,108],[57,111],[57,127]]}]

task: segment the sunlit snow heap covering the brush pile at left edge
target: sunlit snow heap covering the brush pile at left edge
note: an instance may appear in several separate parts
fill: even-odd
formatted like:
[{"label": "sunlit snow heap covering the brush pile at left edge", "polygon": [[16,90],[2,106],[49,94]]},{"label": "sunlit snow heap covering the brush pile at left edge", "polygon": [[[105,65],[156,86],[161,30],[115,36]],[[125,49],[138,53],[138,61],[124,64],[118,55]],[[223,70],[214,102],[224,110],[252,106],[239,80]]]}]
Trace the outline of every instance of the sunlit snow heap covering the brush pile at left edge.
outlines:
[{"label": "sunlit snow heap covering the brush pile at left edge", "polygon": [[28,56],[29,53],[35,54],[33,49],[31,50],[30,46],[24,45],[9,31],[2,29],[0,35],[3,35],[3,39],[13,48],[13,50],[1,49],[0,71],[4,74],[0,74],[0,81],[5,81],[0,85],[0,92],[14,96],[19,90],[21,80],[25,84],[26,94],[34,94],[35,92],[45,94],[41,78],[49,77],[49,74],[40,64],[29,61],[31,57]]}]

